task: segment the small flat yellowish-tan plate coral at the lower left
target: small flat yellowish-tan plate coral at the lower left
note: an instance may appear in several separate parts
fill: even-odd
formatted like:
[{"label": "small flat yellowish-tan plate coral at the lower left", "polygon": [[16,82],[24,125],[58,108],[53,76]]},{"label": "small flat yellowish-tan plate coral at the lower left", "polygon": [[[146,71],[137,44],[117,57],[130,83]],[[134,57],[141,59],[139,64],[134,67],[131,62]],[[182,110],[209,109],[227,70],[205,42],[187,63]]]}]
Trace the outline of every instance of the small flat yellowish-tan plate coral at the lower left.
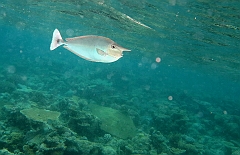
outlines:
[{"label": "small flat yellowish-tan plate coral at the lower left", "polygon": [[57,120],[60,116],[60,112],[38,108],[23,109],[20,112],[28,119],[44,123],[49,119]]}]

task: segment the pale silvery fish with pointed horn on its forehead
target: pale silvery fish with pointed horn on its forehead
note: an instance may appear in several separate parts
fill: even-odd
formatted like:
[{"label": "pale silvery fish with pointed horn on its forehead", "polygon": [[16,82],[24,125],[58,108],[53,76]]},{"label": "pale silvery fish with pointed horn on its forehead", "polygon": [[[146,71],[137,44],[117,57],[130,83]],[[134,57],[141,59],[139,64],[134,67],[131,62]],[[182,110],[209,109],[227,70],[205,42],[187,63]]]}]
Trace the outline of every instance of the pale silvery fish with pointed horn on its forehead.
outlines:
[{"label": "pale silvery fish with pointed horn on its forehead", "polygon": [[59,30],[55,29],[50,50],[63,45],[65,49],[85,60],[102,63],[115,62],[123,56],[123,51],[131,51],[103,36],[86,35],[65,40],[62,39]]}]

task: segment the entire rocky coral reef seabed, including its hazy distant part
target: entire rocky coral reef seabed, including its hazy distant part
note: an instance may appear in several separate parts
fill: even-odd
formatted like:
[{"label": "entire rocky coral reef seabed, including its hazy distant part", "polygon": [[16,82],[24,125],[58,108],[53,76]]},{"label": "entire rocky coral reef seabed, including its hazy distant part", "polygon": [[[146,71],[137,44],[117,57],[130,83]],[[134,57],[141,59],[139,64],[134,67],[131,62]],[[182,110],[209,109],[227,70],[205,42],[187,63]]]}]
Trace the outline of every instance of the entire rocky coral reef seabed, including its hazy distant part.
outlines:
[{"label": "entire rocky coral reef seabed, including its hazy distant part", "polygon": [[239,103],[46,62],[0,72],[0,155],[240,155]]}]

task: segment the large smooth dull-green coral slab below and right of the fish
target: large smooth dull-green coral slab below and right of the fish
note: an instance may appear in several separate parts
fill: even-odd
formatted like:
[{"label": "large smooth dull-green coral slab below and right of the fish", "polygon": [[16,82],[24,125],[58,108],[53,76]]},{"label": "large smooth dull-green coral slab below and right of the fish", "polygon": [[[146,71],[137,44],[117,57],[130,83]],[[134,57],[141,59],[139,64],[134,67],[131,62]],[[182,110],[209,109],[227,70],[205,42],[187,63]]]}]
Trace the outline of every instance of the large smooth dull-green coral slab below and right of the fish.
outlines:
[{"label": "large smooth dull-green coral slab below and right of the fish", "polygon": [[135,136],[136,127],[130,117],[118,110],[96,104],[89,104],[88,107],[101,120],[100,128],[105,132],[122,139]]}]

